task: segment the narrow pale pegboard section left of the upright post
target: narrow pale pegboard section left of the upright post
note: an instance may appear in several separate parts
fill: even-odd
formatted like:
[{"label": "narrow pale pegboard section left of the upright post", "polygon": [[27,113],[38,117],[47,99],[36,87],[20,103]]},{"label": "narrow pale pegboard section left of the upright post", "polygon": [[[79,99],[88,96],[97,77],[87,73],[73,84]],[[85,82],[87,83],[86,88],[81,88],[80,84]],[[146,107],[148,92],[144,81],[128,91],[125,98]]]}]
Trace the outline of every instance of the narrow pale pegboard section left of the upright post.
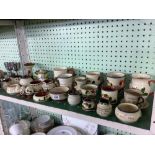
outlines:
[{"label": "narrow pale pegboard section left of the upright post", "polygon": [[20,62],[17,38],[13,26],[0,26],[0,69],[6,71],[4,62]]}]

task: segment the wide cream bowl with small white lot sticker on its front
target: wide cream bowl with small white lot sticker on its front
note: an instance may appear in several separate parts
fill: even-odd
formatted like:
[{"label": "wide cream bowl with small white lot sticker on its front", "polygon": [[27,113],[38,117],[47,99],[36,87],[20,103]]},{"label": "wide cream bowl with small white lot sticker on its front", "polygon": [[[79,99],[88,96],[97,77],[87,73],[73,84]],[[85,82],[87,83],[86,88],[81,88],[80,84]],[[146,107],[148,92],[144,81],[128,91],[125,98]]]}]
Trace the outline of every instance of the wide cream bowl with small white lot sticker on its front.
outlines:
[{"label": "wide cream bowl with small white lot sticker on its front", "polygon": [[53,100],[65,100],[67,99],[68,87],[55,87],[50,90],[50,96]]}]

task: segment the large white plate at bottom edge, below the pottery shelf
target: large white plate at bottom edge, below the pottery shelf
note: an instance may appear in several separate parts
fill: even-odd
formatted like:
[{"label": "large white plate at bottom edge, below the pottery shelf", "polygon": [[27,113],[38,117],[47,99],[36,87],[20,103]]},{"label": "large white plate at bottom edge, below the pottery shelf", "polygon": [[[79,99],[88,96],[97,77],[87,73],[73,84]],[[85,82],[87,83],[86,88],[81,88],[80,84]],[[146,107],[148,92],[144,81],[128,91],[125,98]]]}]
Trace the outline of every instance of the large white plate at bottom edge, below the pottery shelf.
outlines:
[{"label": "large white plate at bottom edge, below the pottery shelf", "polygon": [[69,126],[58,126],[50,130],[47,135],[78,135],[78,132]]}]

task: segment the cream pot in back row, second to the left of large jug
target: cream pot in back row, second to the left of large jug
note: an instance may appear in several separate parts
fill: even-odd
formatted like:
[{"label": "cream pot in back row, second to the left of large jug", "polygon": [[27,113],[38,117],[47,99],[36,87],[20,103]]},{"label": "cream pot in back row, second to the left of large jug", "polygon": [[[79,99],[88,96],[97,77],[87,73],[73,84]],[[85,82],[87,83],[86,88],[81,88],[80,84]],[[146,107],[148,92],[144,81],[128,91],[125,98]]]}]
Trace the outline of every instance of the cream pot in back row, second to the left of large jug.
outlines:
[{"label": "cream pot in back row, second to the left of large jug", "polygon": [[101,73],[100,72],[88,72],[86,73],[86,78],[88,79],[88,83],[99,85],[101,83]]}]

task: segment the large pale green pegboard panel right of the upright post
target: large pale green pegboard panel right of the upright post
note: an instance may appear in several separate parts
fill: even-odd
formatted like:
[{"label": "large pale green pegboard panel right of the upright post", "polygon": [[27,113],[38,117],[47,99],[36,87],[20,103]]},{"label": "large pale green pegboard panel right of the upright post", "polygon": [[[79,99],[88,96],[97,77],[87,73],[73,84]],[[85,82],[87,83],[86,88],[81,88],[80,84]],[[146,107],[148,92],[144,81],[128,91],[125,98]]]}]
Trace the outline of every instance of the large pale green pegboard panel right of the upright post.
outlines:
[{"label": "large pale green pegboard panel right of the upright post", "polygon": [[155,74],[155,20],[26,20],[25,30],[38,68]]}]

